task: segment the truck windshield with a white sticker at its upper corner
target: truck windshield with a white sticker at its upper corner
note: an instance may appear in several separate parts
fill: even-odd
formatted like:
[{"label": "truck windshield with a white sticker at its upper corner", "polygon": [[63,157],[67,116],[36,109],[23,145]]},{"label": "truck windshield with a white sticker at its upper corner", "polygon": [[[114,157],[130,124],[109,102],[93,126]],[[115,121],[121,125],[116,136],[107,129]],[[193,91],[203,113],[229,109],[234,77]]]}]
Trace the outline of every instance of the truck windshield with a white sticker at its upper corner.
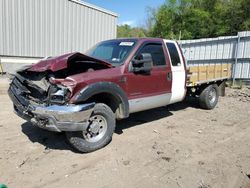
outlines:
[{"label": "truck windshield with a white sticker at its upper corner", "polygon": [[118,66],[123,63],[135,44],[136,40],[132,39],[104,41],[87,51],[86,55]]}]

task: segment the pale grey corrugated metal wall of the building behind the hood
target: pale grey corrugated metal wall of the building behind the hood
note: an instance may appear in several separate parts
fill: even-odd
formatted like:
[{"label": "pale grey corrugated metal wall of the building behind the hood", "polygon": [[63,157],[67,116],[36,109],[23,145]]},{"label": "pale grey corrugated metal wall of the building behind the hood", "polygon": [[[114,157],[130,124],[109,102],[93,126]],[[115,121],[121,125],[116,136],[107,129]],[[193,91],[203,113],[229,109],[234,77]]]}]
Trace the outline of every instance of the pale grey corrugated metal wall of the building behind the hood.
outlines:
[{"label": "pale grey corrugated metal wall of the building behind the hood", "polygon": [[116,38],[117,16],[70,0],[0,0],[0,56],[84,52]]}]

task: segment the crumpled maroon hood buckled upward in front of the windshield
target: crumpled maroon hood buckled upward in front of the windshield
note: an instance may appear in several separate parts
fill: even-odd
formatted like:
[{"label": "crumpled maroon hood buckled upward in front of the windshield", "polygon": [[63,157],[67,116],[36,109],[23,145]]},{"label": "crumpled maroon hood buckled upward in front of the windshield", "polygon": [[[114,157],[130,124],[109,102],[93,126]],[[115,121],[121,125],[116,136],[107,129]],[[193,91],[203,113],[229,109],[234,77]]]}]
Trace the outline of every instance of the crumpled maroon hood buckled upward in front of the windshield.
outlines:
[{"label": "crumpled maroon hood buckled upward in front of the windshield", "polygon": [[57,57],[51,57],[48,59],[43,59],[38,63],[32,65],[28,68],[28,71],[32,72],[44,72],[44,71],[52,71],[56,72],[59,70],[66,69],[69,63],[74,63],[74,61],[94,61],[96,63],[100,63],[102,65],[107,66],[107,68],[111,68],[112,65],[106,61],[96,59],[79,52],[69,53]]}]

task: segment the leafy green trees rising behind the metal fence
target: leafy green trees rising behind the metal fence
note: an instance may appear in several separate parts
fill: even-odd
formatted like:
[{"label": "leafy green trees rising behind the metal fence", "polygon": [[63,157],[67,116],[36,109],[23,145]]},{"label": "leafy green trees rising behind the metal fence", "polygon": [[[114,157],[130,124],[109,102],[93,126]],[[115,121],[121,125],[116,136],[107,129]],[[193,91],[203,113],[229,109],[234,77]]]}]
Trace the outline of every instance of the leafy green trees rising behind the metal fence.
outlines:
[{"label": "leafy green trees rising behind the metal fence", "polygon": [[250,0],[169,0],[154,12],[148,33],[170,39],[235,35],[250,30],[249,10]]}]

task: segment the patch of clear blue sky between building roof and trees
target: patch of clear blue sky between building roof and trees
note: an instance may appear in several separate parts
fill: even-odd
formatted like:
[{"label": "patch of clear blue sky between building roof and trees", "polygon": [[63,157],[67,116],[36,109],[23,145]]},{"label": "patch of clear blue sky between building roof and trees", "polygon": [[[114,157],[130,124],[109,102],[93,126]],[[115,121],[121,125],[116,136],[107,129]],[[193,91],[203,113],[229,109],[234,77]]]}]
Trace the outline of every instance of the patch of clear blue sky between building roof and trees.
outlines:
[{"label": "patch of clear blue sky between building roof and trees", "polygon": [[165,0],[84,0],[119,15],[118,24],[143,26],[147,17],[147,7],[157,8]]}]

